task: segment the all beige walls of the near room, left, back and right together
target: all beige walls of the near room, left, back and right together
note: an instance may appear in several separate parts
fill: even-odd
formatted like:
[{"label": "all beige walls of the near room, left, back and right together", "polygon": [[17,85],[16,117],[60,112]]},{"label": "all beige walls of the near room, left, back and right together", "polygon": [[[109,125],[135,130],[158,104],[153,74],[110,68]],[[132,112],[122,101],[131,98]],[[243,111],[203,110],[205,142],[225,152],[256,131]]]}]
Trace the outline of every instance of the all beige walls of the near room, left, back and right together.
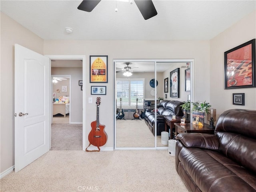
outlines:
[{"label": "all beige walls of the near room, left, back and right together", "polygon": [[[86,134],[95,117],[96,96],[90,86],[107,86],[101,96],[100,123],[106,126],[108,142],[113,146],[113,59],[194,59],[195,100],[209,101],[220,114],[232,105],[233,92],[246,93],[246,106],[256,108],[256,89],[224,90],[224,52],[255,38],[255,12],[211,41],[55,41],[43,40],[1,13],[1,172],[14,165],[14,44],[18,43],[46,55],[86,55],[83,69],[86,82]],[[246,29],[246,30],[245,30]],[[44,47],[44,48],[43,48]],[[42,50],[44,49],[44,50]],[[210,57],[211,54],[211,57]],[[108,83],[89,83],[89,56],[108,55]],[[211,64],[211,66],[210,66]],[[211,81],[210,81],[211,78]],[[210,86],[209,86],[210,85]],[[88,104],[88,97],[93,103]],[[88,141],[86,141],[88,145]],[[104,146],[104,147],[105,147]]]}]

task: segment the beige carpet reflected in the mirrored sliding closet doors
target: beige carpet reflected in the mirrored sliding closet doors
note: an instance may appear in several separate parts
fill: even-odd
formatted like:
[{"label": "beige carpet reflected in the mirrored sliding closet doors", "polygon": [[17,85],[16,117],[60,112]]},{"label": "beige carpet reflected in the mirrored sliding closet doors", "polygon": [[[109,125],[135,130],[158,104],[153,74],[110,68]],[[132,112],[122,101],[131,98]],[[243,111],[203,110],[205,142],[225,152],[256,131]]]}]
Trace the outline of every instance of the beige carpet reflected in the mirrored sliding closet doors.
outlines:
[{"label": "beige carpet reflected in the mirrored sliding closet doors", "polygon": [[[155,137],[150,132],[144,119],[142,120],[116,120],[116,146],[117,147],[154,147]],[[156,146],[161,144],[161,136],[157,136]]]}]

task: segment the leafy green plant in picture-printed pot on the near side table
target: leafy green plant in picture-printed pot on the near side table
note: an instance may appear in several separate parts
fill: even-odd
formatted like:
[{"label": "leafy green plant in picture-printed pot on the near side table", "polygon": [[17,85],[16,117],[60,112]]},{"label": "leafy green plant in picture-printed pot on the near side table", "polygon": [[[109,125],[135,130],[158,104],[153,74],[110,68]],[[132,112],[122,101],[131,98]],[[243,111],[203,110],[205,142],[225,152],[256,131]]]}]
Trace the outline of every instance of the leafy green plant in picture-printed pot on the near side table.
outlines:
[{"label": "leafy green plant in picture-printed pot on the near side table", "polygon": [[192,102],[192,124],[194,125],[204,125],[205,112],[208,113],[211,105],[210,103],[204,102]]}]

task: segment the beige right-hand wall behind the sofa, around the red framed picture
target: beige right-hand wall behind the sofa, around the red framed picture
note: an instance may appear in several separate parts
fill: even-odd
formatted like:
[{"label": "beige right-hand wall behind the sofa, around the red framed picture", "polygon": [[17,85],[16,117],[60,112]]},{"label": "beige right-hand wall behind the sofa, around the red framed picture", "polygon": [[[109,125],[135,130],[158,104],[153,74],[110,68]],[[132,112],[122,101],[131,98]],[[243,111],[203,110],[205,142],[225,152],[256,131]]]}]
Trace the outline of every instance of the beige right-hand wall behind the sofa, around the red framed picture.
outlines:
[{"label": "beige right-hand wall behind the sofa, around the red framed picture", "polygon": [[[217,109],[217,116],[232,108],[256,109],[256,88],[224,89],[224,52],[254,38],[256,12],[210,40],[210,104]],[[244,106],[232,104],[233,93],[245,93]]]}]

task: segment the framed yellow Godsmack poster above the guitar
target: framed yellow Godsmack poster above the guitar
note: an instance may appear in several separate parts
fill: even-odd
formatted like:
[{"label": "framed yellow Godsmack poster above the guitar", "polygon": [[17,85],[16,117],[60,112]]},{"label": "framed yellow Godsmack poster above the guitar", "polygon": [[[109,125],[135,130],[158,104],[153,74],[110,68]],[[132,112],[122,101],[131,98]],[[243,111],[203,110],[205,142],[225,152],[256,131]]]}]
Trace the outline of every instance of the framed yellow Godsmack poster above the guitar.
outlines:
[{"label": "framed yellow Godsmack poster above the guitar", "polygon": [[90,83],[108,82],[108,56],[90,56]]}]

